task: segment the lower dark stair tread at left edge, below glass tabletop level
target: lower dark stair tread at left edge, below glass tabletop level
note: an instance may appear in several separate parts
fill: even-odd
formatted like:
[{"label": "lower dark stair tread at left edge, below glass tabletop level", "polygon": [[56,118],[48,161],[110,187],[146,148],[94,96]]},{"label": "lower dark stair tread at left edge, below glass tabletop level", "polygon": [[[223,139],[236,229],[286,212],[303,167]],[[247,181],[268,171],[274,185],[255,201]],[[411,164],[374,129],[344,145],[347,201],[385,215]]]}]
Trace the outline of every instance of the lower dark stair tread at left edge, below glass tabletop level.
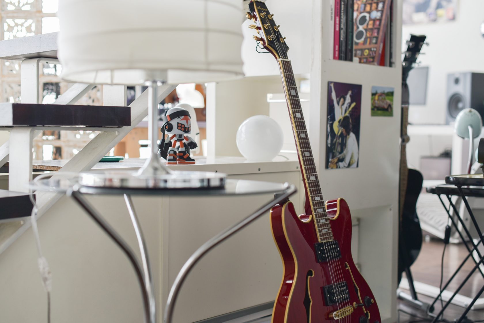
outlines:
[{"label": "lower dark stair tread at left edge, below glass tabletop level", "polygon": [[0,189],[0,220],[30,216],[32,207],[29,194]]}]

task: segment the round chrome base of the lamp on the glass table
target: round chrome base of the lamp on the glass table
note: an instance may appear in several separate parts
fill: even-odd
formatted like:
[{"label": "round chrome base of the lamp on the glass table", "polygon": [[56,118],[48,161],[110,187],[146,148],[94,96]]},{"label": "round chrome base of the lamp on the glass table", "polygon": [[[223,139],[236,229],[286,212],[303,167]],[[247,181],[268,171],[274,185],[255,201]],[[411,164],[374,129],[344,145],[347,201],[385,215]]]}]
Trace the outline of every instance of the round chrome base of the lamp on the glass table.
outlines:
[{"label": "round chrome base of the lamp on the glass table", "polygon": [[79,173],[78,183],[89,187],[125,189],[223,188],[227,175],[210,171],[172,171],[143,175],[136,171],[108,170]]}]

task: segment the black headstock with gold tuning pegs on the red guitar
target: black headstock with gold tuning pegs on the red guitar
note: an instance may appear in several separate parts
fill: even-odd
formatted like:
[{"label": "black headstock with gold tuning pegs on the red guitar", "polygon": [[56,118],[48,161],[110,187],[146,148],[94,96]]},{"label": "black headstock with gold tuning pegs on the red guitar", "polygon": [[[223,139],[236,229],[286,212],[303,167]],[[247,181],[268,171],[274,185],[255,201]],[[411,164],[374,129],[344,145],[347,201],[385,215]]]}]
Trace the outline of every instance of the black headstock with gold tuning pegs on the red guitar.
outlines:
[{"label": "black headstock with gold tuning pegs on the red guitar", "polygon": [[252,0],[249,3],[249,10],[246,14],[247,19],[255,23],[249,28],[256,30],[259,34],[254,36],[254,39],[259,41],[275,58],[287,59],[289,47],[286,44],[286,37],[281,34],[280,26],[275,23],[274,15],[269,12],[266,4],[262,1]]}]

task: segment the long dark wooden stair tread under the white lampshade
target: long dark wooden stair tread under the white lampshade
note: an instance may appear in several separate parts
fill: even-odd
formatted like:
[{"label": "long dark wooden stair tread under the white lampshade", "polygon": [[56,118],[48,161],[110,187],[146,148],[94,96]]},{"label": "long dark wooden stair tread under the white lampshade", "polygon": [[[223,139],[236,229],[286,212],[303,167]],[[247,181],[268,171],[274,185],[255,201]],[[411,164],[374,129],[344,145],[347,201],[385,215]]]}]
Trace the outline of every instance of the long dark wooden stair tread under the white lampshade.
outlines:
[{"label": "long dark wooden stair tread under the white lampshade", "polygon": [[130,107],[0,103],[0,127],[131,125]]}]

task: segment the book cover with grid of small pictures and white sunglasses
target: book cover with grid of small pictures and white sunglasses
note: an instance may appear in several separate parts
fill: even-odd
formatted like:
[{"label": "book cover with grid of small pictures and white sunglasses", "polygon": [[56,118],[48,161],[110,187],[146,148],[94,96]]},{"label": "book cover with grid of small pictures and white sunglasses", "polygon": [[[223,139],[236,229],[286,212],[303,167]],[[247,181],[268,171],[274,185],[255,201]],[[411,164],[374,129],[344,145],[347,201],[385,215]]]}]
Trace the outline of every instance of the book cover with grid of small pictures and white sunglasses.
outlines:
[{"label": "book cover with grid of small pictures and white sunglasses", "polygon": [[392,0],[355,0],[354,56],[379,65]]}]

